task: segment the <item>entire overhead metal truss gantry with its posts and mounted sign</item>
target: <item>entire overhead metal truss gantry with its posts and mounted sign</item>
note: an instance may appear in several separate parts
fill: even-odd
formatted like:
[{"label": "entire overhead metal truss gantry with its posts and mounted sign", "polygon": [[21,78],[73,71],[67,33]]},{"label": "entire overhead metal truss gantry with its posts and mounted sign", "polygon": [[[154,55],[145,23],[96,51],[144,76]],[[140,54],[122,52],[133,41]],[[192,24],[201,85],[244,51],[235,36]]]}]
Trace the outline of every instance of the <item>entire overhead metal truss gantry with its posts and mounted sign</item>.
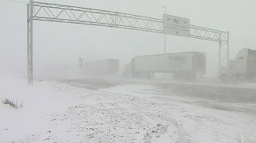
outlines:
[{"label": "entire overhead metal truss gantry with its posts and mounted sign", "polygon": [[228,32],[190,25],[189,19],[186,18],[164,14],[163,19],[158,19],[94,8],[33,2],[31,0],[27,4],[27,70],[29,85],[33,84],[33,20],[125,28],[219,42],[219,68],[226,61],[225,59],[227,59],[226,63],[229,60]]}]

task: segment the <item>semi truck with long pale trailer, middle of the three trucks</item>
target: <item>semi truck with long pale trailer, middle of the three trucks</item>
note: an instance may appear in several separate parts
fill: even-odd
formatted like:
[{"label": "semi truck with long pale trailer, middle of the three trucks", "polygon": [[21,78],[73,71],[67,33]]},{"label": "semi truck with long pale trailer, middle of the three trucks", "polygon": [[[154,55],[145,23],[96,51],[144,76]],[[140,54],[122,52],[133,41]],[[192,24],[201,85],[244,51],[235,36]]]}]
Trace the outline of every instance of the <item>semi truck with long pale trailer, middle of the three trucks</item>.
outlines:
[{"label": "semi truck with long pale trailer, middle of the three trucks", "polygon": [[135,56],[125,65],[123,76],[150,79],[154,73],[171,73],[177,80],[195,80],[206,73],[206,53],[193,51]]}]

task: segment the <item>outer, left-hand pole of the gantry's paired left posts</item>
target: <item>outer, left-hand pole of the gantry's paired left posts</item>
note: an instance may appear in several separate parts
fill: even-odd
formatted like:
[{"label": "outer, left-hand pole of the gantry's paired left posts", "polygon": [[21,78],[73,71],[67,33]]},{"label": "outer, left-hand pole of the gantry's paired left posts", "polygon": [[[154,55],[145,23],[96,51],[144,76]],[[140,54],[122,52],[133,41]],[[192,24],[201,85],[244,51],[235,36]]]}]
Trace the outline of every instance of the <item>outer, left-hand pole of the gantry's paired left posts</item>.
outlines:
[{"label": "outer, left-hand pole of the gantry's paired left posts", "polygon": [[28,84],[30,85],[30,61],[29,61],[29,3],[27,4],[27,62],[28,62],[28,67],[27,67],[27,72],[28,72]]}]

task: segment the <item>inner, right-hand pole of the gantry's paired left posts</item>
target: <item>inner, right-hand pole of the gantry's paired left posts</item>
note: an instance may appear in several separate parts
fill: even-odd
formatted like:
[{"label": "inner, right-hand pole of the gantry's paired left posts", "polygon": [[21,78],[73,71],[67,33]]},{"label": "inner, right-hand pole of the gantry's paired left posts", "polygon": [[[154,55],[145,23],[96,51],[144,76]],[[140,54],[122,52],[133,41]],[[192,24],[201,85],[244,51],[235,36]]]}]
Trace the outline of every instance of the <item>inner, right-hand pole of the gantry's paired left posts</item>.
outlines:
[{"label": "inner, right-hand pole of the gantry's paired left posts", "polygon": [[30,85],[33,85],[33,0],[30,1]]}]

